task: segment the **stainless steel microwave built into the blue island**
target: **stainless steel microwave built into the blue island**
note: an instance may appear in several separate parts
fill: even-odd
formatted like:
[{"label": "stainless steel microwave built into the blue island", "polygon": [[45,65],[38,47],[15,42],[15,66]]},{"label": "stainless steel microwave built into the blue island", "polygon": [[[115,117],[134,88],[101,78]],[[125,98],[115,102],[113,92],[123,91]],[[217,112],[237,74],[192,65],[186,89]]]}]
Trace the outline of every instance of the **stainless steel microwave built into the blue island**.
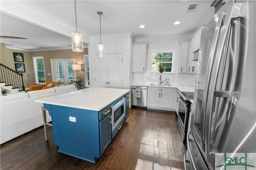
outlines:
[{"label": "stainless steel microwave built into the blue island", "polygon": [[116,129],[122,119],[125,117],[125,98],[119,100],[111,106],[111,124],[112,132]]}]

